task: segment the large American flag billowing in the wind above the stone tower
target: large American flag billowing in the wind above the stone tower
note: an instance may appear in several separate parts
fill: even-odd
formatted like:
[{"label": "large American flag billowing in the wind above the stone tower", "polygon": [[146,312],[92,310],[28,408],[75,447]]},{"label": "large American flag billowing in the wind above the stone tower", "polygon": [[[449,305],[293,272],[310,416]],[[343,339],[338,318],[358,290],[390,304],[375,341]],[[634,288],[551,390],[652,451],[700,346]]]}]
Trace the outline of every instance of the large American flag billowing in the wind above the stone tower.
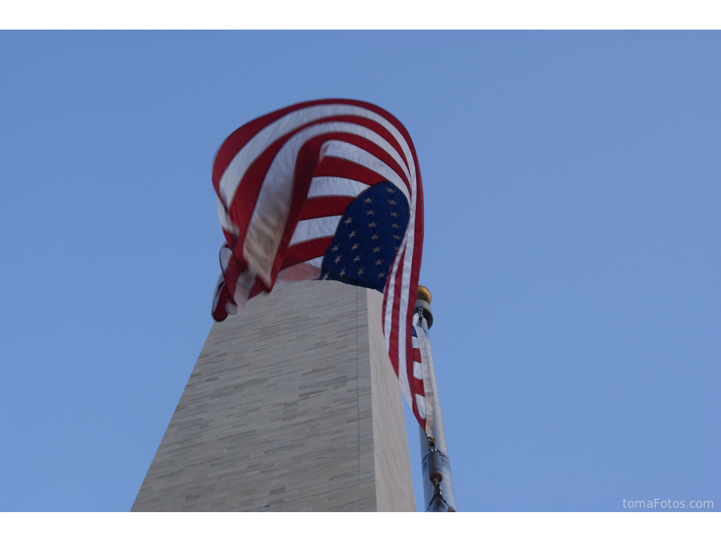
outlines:
[{"label": "large American flag billowing in the wind above the stone tower", "polygon": [[291,105],[226,139],[213,186],[226,237],[213,317],[224,320],[275,283],[337,280],[383,292],[386,350],[413,413],[430,431],[412,341],[423,190],[404,126],[366,102]]}]

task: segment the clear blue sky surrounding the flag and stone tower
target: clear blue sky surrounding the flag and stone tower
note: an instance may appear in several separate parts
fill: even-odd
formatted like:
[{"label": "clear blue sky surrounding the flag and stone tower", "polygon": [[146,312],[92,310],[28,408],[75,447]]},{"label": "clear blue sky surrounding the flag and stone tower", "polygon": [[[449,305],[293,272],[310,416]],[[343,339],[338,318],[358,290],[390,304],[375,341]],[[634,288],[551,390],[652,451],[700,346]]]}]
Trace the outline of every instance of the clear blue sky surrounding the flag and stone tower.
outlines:
[{"label": "clear blue sky surrounding the flag and stone tower", "polygon": [[216,149],[322,97],[415,141],[459,510],[718,510],[720,96],[719,32],[0,32],[0,511],[130,509],[212,323]]}]

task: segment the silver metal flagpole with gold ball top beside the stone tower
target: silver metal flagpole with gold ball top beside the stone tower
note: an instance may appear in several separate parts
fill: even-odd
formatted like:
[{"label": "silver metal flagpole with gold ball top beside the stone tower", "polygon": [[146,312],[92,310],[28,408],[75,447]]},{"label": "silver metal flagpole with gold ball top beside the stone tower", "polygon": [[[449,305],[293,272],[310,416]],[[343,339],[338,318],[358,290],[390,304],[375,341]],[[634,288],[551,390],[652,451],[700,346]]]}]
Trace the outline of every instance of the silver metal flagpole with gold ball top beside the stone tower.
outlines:
[{"label": "silver metal flagpole with gold ball top beside the stone tower", "polygon": [[[418,286],[416,312],[420,315],[420,324],[425,331],[433,325],[433,314],[430,312],[430,291]],[[420,428],[420,456],[423,468],[423,501],[426,511],[456,511],[456,494],[454,492],[451,462],[448,459],[446,431],[443,429],[441,403],[438,400],[438,386],[435,384],[433,357],[428,356],[430,385],[433,389],[433,436],[428,436]]]}]

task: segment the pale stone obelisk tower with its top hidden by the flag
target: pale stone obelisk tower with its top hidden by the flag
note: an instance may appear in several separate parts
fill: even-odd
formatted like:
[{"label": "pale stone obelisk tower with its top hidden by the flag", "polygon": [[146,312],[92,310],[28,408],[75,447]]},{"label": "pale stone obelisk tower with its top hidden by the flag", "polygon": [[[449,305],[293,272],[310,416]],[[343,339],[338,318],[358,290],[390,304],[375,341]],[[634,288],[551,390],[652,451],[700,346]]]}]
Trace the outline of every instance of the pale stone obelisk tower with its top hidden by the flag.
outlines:
[{"label": "pale stone obelisk tower with its top hidden by the flag", "polygon": [[278,286],[213,323],[133,511],[415,511],[382,295]]}]

